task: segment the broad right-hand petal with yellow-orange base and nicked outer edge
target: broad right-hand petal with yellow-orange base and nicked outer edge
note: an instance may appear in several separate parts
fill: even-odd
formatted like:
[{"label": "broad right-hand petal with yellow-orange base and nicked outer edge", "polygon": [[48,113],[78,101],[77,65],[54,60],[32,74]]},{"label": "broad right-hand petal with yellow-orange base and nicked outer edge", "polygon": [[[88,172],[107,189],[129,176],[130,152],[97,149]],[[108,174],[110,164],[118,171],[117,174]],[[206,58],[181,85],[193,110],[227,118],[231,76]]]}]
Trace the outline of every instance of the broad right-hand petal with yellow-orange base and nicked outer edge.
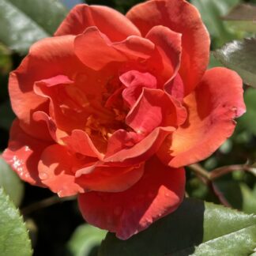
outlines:
[{"label": "broad right-hand petal with yellow-orange base and nicked outer edge", "polygon": [[234,119],[245,112],[242,80],[232,70],[208,70],[184,102],[188,119],[158,152],[164,163],[175,168],[204,160],[232,135]]}]

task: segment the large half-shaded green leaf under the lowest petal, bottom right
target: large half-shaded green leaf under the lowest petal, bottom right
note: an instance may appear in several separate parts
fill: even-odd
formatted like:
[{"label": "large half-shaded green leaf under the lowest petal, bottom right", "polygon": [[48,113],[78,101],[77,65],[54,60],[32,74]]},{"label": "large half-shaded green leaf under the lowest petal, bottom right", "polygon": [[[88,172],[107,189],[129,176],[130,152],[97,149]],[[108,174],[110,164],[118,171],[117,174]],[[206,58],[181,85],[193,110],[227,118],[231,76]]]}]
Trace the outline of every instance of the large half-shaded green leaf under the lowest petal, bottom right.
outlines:
[{"label": "large half-shaded green leaf under the lowest petal, bottom right", "polygon": [[175,213],[126,241],[108,233],[100,256],[246,256],[256,247],[256,216],[186,199]]}]

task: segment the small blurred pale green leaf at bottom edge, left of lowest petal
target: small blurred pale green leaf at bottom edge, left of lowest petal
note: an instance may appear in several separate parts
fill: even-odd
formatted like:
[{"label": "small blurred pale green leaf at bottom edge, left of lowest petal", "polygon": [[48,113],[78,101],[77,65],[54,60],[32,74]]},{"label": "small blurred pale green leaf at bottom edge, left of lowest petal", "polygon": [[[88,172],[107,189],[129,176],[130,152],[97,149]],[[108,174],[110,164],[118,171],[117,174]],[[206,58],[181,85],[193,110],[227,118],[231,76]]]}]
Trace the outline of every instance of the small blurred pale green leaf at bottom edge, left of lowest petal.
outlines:
[{"label": "small blurred pale green leaf at bottom edge, left of lowest petal", "polygon": [[100,246],[106,233],[106,231],[92,227],[89,224],[79,226],[68,243],[70,255],[92,256],[92,251]]}]

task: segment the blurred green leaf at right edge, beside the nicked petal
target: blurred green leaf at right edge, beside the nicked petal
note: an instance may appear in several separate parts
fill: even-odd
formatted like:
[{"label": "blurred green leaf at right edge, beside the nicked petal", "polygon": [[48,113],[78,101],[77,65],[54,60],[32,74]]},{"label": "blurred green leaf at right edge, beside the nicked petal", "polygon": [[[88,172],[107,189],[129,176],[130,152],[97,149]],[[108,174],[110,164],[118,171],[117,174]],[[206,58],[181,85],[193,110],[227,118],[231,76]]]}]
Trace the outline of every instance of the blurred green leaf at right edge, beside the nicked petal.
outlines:
[{"label": "blurred green leaf at right edge, beside the nicked petal", "polygon": [[248,88],[244,92],[244,101],[247,106],[247,112],[238,120],[239,128],[250,131],[256,135],[256,90]]}]

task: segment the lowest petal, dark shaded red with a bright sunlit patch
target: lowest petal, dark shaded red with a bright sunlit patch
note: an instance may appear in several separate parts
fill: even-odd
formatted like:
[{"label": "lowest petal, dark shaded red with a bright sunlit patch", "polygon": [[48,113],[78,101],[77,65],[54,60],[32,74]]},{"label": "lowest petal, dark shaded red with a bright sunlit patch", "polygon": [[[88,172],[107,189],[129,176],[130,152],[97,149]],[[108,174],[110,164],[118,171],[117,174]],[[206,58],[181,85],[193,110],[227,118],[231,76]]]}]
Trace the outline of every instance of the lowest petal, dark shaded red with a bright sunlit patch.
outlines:
[{"label": "lowest petal, dark shaded red with a bright sunlit patch", "polygon": [[185,171],[168,168],[153,158],[142,178],[120,193],[88,192],[78,196],[81,213],[89,224],[115,232],[119,239],[148,228],[175,211],[183,201]]}]

